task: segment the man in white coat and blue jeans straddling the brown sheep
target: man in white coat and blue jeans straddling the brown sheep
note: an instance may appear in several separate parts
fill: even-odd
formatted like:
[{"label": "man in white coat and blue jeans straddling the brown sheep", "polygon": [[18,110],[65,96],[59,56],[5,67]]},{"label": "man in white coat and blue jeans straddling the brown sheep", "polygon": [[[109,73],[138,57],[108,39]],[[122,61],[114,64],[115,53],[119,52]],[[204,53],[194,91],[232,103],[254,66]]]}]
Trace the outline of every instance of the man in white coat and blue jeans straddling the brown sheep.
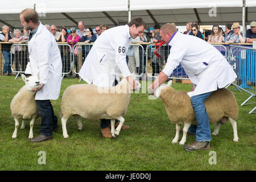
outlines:
[{"label": "man in white coat and blue jeans straddling the brown sheep", "polygon": [[163,84],[172,71],[181,63],[193,83],[191,104],[195,111],[197,126],[191,125],[189,133],[196,134],[196,142],[184,146],[186,151],[209,149],[210,124],[204,101],[218,88],[224,88],[236,79],[232,67],[221,53],[211,44],[195,36],[177,32],[171,23],[160,28],[162,41],[171,47],[166,66],[150,85],[149,92]]}]

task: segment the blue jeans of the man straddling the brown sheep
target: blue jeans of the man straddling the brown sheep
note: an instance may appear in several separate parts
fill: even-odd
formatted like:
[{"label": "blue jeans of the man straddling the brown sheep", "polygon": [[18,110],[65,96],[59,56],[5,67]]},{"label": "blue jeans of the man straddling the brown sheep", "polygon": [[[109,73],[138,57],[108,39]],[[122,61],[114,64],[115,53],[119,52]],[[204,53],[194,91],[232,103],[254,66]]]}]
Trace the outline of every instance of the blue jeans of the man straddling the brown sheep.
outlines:
[{"label": "blue jeans of the man straddling the brown sheep", "polygon": [[196,141],[199,142],[212,140],[209,117],[204,106],[204,101],[207,100],[211,93],[212,92],[208,92],[191,97],[191,104],[195,111],[197,126],[191,125],[188,132],[196,134]]}]

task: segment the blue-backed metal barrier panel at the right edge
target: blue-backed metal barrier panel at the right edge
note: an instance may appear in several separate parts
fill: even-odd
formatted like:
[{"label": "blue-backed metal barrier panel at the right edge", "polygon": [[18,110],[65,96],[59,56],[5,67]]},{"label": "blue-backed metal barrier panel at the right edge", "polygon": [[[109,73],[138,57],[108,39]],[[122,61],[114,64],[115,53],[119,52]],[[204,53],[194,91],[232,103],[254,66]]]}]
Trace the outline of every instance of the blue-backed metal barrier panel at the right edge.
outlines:
[{"label": "blue-backed metal barrier panel at the right edge", "polygon": [[[228,61],[237,74],[237,80],[232,85],[251,95],[241,104],[245,105],[251,98],[256,98],[256,49],[229,46]],[[249,113],[254,113],[255,109],[256,107]]]}]

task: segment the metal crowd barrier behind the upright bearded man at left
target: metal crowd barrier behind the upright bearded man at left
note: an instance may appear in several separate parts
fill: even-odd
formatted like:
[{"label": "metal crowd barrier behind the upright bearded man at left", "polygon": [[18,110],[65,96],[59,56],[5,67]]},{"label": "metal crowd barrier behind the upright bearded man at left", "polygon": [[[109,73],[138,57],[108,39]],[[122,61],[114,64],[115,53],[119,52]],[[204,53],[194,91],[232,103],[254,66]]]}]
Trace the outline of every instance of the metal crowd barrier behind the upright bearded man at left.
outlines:
[{"label": "metal crowd barrier behind the upright bearded man at left", "polygon": [[[60,49],[62,61],[62,75],[72,72],[72,48],[69,44],[57,44]],[[28,44],[13,44],[11,46],[11,71],[16,73],[16,78],[20,73],[24,73],[29,61]]]}]

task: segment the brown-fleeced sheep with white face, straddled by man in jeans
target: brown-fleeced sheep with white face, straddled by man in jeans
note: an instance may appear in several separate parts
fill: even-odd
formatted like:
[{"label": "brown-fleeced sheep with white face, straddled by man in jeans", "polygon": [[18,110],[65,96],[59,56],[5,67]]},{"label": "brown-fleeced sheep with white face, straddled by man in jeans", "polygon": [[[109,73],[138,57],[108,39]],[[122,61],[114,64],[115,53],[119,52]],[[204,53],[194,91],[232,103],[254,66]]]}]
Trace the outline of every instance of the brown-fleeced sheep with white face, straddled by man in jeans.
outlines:
[{"label": "brown-fleeced sheep with white face, straddled by man in jeans", "polygon": [[[184,123],[183,137],[180,145],[184,145],[187,138],[187,131],[191,124],[196,125],[196,116],[191,105],[190,97],[185,91],[176,91],[171,88],[172,80],[168,84],[162,84],[159,88],[155,89],[154,96],[162,100],[168,118],[172,123],[176,123],[176,135],[172,143],[177,143],[180,133],[180,125]],[[237,136],[237,123],[238,118],[238,105],[234,94],[225,88],[214,91],[204,102],[205,108],[208,113],[210,124],[216,123],[212,135],[218,135],[220,129],[221,119],[229,118],[233,127],[234,142],[238,142]]]}]

